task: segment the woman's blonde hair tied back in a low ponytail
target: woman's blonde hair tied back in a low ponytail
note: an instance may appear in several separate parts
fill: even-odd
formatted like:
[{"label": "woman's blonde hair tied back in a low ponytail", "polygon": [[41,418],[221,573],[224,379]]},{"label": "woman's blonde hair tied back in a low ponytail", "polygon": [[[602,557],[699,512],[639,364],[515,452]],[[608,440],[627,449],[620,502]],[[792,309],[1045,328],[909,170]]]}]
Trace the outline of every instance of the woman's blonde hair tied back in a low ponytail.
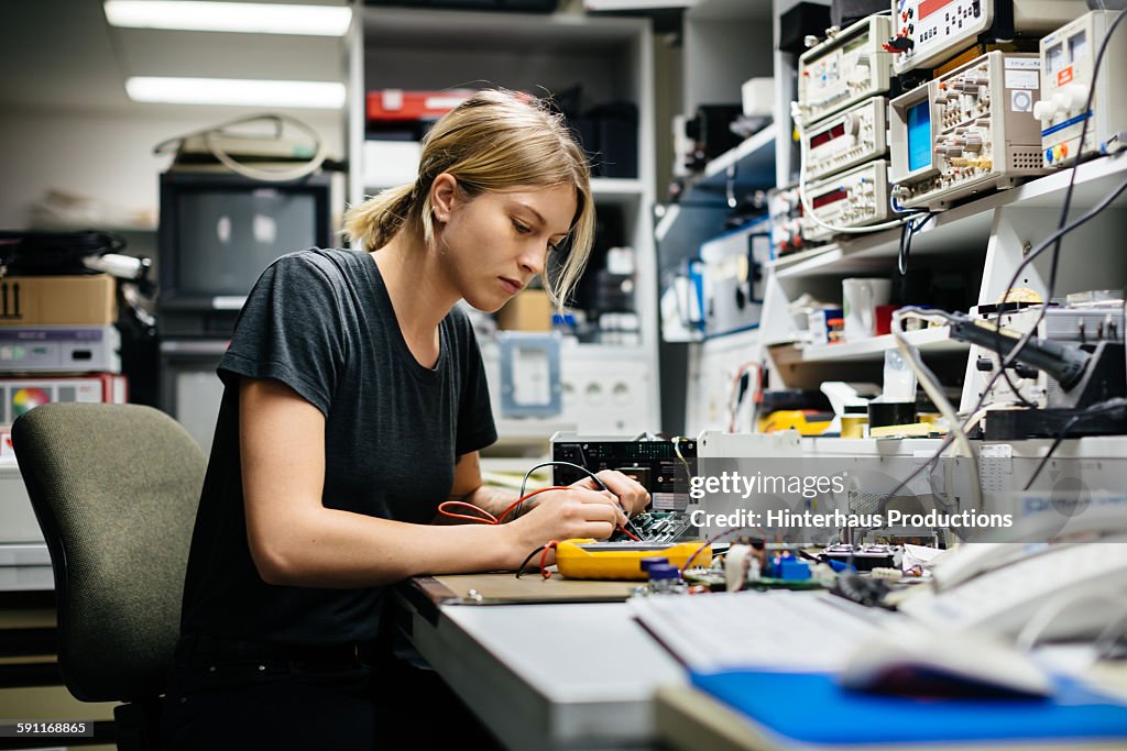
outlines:
[{"label": "woman's blonde hair tied back in a low ponytail", "polygon": [[444,115],[423,140],[418,179],[349,208],[345,233],[371,250],[399,232],[415,233],[433,245],[431,186],[443,172],[452,175],[470,199],[517,186],[575,188],[576,213],[565,241],[569,251],[562,259],[550,253],[541,275],[557,307],[566,304],[591,254],[595,205],[587,159],[562,115],[543,100],[511,91],[476,93]]}]

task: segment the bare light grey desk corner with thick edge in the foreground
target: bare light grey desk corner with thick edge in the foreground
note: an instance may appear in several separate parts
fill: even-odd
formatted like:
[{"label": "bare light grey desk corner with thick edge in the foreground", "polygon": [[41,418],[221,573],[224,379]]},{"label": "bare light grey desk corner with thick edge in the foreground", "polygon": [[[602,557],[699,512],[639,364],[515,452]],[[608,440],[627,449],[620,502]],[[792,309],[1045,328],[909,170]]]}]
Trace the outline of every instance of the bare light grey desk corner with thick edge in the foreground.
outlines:
[{"label": "bare light grey desk corner with thick edge in the foreground", "polygon": [[408,614],[416,649],[511,749],[650,748],[657,687],[685,682],[622,602],[440,605],[435,617],[415,598]]}]

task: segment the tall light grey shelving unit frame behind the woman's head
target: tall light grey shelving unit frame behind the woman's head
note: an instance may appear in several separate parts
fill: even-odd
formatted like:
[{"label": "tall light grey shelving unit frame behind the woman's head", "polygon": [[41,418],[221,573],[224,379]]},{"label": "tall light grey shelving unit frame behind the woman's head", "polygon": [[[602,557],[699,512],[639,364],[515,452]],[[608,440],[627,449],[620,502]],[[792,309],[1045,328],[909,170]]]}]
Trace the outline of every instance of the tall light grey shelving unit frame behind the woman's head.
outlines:
[{"label": "tall light grey shelving unit frame behind the woman's head", "polygon": [[[637,346],[568,347],[564,413],[506,420],[494,399],[498,427],[513,437],[547,439],[558,424],[586,432],[660,428],[658,411],[657,261],[654,250],[654,81],[649,23],[637,18],[364,7],[353,29],[349,60],[350,162],[363,164],[364,95],[383,88],[442,90],[498,86],[532,93],[564,93],[579,86],[584,100],[625,100],[638,107],[638,175],[593,179],[600,209],[622,217],[636,259]],[[363,168],[349,176],[349,199],[390,187]],[[496,347],[482,341],[491,388],[499,382]],[[623,395],[623,388],[627,390]],[[524,440],[521,438],[521,440]],[[505,439],[505,435],[502,436]]]}]

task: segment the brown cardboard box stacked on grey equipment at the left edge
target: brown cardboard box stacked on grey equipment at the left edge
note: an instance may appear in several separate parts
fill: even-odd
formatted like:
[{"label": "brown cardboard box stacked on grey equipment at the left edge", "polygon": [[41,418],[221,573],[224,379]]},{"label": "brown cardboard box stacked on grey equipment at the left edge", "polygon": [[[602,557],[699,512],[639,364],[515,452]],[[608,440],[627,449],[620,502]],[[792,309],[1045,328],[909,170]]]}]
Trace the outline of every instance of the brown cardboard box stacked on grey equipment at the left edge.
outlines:
[{"label": "brown cardboard box stacked on grey equipment at the left edge", "polygon": [[0,279],[0,325],[109,325],[117,287],[108,274]]}]

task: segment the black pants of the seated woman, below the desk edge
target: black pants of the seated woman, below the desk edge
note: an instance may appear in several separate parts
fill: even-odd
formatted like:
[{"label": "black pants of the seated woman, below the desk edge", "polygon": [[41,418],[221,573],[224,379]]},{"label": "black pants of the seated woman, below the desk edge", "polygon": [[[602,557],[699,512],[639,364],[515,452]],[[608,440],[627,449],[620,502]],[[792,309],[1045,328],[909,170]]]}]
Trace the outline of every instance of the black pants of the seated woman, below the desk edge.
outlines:
[{"label": "black pants of the seated woman, below the desk edge", "polygon": [[467,739],[474,749],[499,748],[434,671],[385,652],[350,660],[181,655],[166,700],[163,746],[177,751],[372,751]]}]

